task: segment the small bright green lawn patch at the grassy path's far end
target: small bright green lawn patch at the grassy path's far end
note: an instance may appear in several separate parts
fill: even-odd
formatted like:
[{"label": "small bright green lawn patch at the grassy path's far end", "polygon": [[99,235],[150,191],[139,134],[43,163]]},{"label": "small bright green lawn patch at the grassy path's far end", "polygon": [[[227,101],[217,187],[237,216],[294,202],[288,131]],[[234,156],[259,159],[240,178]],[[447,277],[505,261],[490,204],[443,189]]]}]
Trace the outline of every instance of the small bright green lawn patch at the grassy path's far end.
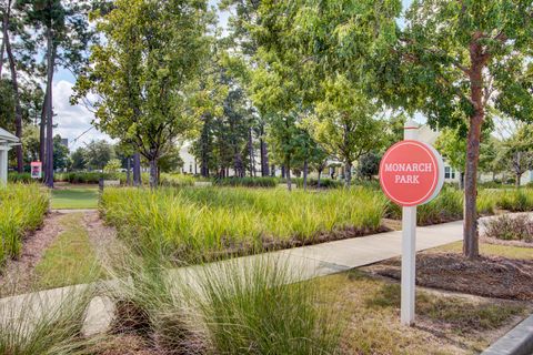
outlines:
[{"label": "small bright green lawn patch at the grassy path's far end", "polygon": [[83,210],[98,207],[98,187],[69,187],[52,191],[52,209]]}]

